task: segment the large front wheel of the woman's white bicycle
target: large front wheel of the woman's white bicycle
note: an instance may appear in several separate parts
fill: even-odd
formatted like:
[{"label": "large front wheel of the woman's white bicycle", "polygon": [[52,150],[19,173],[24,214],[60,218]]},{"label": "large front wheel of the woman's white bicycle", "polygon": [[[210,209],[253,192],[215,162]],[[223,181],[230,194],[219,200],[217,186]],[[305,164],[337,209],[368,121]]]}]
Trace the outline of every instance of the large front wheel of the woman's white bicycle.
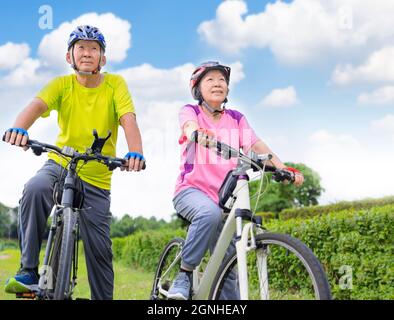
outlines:
[{"label": "large front wheel of the woman's white bicycle", "polygon": [[[237,255],[222,264],[212,286],[210,299],[226,296],[230,286],[239,290]],[[319,260],[300,240],[289,235],[256,235],[256,248],[247,254],[250,300],[328,300],[330,286]],[[226,283],[227,282],[227,283]]]}]

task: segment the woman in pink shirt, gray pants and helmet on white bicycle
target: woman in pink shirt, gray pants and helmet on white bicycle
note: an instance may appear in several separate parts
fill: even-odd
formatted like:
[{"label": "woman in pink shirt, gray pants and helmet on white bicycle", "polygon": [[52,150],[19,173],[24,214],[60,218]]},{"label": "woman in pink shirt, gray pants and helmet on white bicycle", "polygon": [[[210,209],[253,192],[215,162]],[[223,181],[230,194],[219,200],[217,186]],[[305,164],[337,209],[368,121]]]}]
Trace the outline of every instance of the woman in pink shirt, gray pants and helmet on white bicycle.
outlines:
[{"label": "woman in pink shirt, gray pants and helmet on white bicycle", "polygon": [[[182,251],[181,269],[168,292],[170,299],[188,299],[192,271],[200,264],[207,249],[213,251],[222,223],[218,205],[218,191],[226,174],[235,168],[236,160],[224,160],[205,146],[216,139],[257,153],[273,155],[271,165],[295,173],[295,184],[303,183],[303,175],[286,166],[260,140],[249,126],[245,116],[225,108],[230,68],[218,62],[205,62],[193,72],[191,93],[197,105],[186,105],[179,113],[182,131],[181,173],[177,179],[174,207],[177,213],[191,222]],[[198,137],[194,143],[194,137]],[[228,250],[234,250],[232,243]],[[228,251],[229,252],[229,251]],[[232,287],[231,287],[232,286]],[[237,299],[235,282],[226,285],[222,298]]]}]

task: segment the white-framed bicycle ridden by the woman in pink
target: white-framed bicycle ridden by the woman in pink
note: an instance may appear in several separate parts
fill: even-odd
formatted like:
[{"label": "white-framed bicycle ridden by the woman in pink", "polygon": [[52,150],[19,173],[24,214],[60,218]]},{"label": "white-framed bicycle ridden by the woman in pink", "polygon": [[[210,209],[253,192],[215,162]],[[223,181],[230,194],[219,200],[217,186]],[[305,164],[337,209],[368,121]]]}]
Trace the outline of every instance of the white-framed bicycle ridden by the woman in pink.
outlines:
[{"label": "white-framed bicycle ridden by the woman in pink", "polygon": [[[192,141],[197,141],[195,138]],[[234,290],[239,290],[241,300],[331,299],[326,274],[311,249],[290,235],[267,231],[262,218],[250,209],[249,169],[261,174],[257,202],[265,173],[272,173],[277,182],[294,182],[294,174],[267,165],[272,157],[269,154],[247,156],[219,141],[211,141],[206,147],[216,149],[224,159],[237,158],[238,161],[219,191],[223,229],[208,261],[203,259],[193,271],[190,298],[219,300],[223,285],[235,275]],[[234,234],[236,250],[225,257]],[[162,251],[150,299],[167,299],[168,290],[179,272],[183,244],[182,238],[175,238]]]}]

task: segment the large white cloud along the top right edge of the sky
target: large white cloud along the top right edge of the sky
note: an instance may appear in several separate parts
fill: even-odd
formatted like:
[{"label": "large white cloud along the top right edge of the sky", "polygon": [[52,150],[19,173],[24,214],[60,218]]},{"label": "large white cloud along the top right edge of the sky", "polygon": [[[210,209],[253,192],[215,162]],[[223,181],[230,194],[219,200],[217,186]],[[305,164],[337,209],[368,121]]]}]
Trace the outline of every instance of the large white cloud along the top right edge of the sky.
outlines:
[{"label": "large white cloud along the top right edge of the sky", "polygon": [[[349,51],[370,52],[392,39],[394,3],[381,0],[294,0],[266,5],[247,14],[245,1],[222,2],[216,17],[199,34],[210,45],[237,54],[249,47],[269,48],[286,63],[337,57]],[[376,17],[379,17],[378,19]]]}]

